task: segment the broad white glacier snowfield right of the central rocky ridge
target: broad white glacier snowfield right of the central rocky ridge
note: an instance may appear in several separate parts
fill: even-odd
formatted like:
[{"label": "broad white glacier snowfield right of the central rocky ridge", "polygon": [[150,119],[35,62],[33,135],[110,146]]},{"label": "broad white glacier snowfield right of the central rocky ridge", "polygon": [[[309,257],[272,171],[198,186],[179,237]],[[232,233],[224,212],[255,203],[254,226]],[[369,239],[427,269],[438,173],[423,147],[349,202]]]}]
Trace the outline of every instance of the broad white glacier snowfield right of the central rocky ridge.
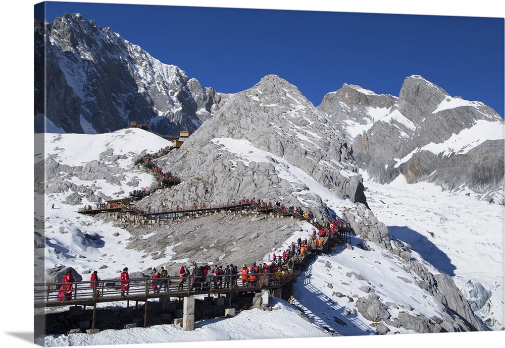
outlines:
[{"label": "broad white glacier snowfield right of the central rocky ridge", "polygon": [[467,299],[467,283],[481,283],[492,295],[478,314],[497,318],[502,327],[503,206],[473,199],[469,190],[458,194],[442,191],[431,183],[407,184],[403,176],[389,185],[366,181],[365,186],[368,204],[386,224],[389,235],[410,244],[424,260],[452,275]]}]

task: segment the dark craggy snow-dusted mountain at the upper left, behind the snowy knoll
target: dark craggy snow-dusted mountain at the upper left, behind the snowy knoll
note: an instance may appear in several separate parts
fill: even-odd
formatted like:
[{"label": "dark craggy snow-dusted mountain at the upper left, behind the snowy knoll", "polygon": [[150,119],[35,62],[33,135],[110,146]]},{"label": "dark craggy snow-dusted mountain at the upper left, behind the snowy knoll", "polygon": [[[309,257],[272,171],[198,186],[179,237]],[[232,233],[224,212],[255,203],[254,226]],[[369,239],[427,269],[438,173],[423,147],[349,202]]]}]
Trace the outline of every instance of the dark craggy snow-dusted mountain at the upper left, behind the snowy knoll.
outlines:
[{"label": "dark craggy snow-dusted mountain at the upper left, behind the snowy knoll", "polygon": [[36,132],[105,133],[130,121],[193,132],[228,98],[79,14],[35,21],[34,34]]}]

